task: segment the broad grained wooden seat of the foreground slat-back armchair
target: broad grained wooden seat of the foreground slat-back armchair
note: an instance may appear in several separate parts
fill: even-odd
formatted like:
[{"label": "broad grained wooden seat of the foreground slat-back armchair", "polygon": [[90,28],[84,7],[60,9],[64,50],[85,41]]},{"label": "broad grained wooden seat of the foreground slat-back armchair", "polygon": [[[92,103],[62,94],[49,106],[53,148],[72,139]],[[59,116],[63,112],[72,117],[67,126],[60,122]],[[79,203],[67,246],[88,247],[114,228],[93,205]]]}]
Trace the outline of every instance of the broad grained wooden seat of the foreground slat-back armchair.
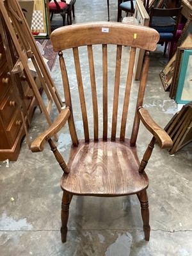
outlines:
[{"label": "broad grained wooden seat of the foreground slat-back armchair", "polygon": [[[129,140],[80,141],[72,147],[61,188],[73,194],[118,196],[138,193],[148,187],[145,172],[140,174],[136,147]],[[73,188],[73,189],[72,189]]]}]

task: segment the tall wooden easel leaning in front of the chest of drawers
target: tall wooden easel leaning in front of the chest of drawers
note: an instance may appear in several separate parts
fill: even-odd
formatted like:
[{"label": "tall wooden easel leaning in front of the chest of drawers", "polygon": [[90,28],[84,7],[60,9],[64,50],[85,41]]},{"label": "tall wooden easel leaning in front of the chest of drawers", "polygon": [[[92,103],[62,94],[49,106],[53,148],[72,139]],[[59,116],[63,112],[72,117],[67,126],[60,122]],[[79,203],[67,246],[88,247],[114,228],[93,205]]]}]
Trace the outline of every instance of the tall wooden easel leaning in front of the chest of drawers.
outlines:
[{"label": "tall wooden easel leaning in front of the chest of drawers", "polygon": [[[20,8],[19,2],[17,0],[0,0],[0,10],[2,20],[1,23],[4,24],[4,27],[6,27],[6,31],[10,33],[10,38],[12,38],[13,45],[15,46],[15,50],[17,51],[19,57],[16,63],[13,63],[13,61],[10,62],[9,68],[12,70],[10,72],[11,77],[12,79],[19,81],[19,77],[24,74],[26,80],[28,81],[29,87],[33,90],[40,111],[44,113],[47,123],[50,126],[52,125],[50,117],[52,102],[54,102],[56,105],[59,113],[61,112],[61,107],[63,106],[60,95],[54,86],[49,70],[47,70],[42,55],[40,54],[38,46],[36,45],[35,38],[33,38],[33,35],[31,34],[31,30]],[[3,38],[4,36],[5,35],[3,35]],[[8,40],[6,40],[6,38],[3,39],[3,42],[4,44],[8,44]],[[10,53],[10,56],[11,55],[12,54]],[[45,106],[44,100],[36,87],[33,74],[29,69],[29,59],[31,59],[35,67],[36,74],[40,79],[40,83],[44,88],[48,99],[47,107]],[[19,91],[21,89],[22,88],[20,88],[19,83]],[[23,105],[22,108],[25,109],[25,106]],[[27,111],[24,112],[27,115]],[[55,136],[55,139],[58,140],[58,137]]]}]

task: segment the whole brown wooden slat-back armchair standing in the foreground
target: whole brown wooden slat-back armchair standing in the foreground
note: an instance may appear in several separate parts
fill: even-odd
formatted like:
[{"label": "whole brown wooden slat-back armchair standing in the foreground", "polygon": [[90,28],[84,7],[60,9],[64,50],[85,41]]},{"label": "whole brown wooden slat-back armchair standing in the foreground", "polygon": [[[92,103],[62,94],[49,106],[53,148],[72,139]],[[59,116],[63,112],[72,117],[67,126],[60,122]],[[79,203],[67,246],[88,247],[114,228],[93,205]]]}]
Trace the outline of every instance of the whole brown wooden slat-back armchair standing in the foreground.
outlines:
[{"label": "whole brown wooden slat-back armchair standing in the foreground", "polygon": [[[45,141],[48,141],[56,160],[63,170],[63,176],[61,177],[61,188],[63,189],[61,241],[63,243],[67,238],[68,209],[73,195],[108,197],[136,194],[141,204],[145,240],[148,241],[149,239],[148,178],[145,173],[145,167],[152,154],[156,140],[161,148],[172,147],[172,140],[168,134],[152,120],[147,109],[142,106],[148,74],[149,51],[156,49],[158,40],[159,34],[155,29],[118,22],[76,24],[58,28],[51,34],[54,51],[59,52],[60,56],[66,107],[61,111],[54,124],[33,141],[31,150],[33,152],[42,151]],[[127,51],[127,56],[122,56],[124,55],[122,54],[122,45],[131,47],[130,54]],[[108,63],[113,65],[109,61],[108,55],[110,52],[114,52],[109,51],[110,47],[116,48],[116,67],[114,67],[115,71],[113,73],[115,74],[114,87],[108,84]],[[125,138],[125,132],[127,130],[127,113],[137,47],[145,49],[146,56],[140,87],[138,88],[135,115],[133,119],[131,115],[128,115],[129,120],[133,120],[131,138],[128,139]],[[73,52],[74,57],[78,90],[70,90],[69,81],[74,82],[74,73],[71,70],[68,72],[73,76],[72,80],[69,80],[63,58],[62,51],[70,48],[72,48],[71,52]],[[83,51],[84,55],[86,49],[88,62],[85,63],[83,61],[82,63],[79,60],[81,57],[80,52]],[[96,51],[98,56],[99,49],[100,56],[102,56],[101,61],[97,61],[94,64],[93,53]],[[127,47],[124,47],[124,49],[126,51]],[[122,88],[120,86],[120,67],[123,57],[125,57],[125,61],[130,60],[129,67],[127,66],[127,78],[125,78],[124,97],[122,93],[120,94],[120,89]],[[95,65],[100,65],[100,63],[102,66],[101,72],[97,76]],[[84,72],[87,76],[86,66],[90,72],[90,83],[83,84],[84,79],[82,77]],[[97,80],[98,77],[99,81]],[[75,91],[76,93],[73,94],[72,92]],[[109,97],[113,99],[113,104],[109,102]],[[89,103],[92,102],[92,108],[88,107],[85,99]],[[118,105],[120,104],[122,104],[120,109],[122,115],[119,116]],[[110,106],[113,109],[111,112]],[[92,111],[92,115],[90,111]],[[77,138],[76,131],[75,117],[79,116],[79,114],[82,114],[84,130],[84,138],[81,138],[81,140]],[[112,122],[110,122],[110,117]],[[136,148],[140,120],[152,134],[152,140],[141,161],[138,159]],[[93,125],[89,126],[88,121]],[[51,137],[56,132],[59,132],[66,122],[68,122],[72,140],[67,164],[51,140]],[[119,129],[118,125],[120,125]],[[93,127],[93,129],[89,129],[90,127]],[[120,135],[117,135],[119,131]],[[90,138],[91,133],[93,138]]]}]

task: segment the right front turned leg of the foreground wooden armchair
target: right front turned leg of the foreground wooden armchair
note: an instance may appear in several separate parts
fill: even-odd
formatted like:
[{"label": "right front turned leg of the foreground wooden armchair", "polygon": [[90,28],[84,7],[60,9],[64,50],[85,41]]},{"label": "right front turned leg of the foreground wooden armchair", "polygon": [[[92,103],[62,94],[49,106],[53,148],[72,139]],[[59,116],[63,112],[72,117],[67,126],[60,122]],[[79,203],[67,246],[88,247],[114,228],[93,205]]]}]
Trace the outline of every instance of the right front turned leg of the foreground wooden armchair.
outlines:
[{"label": "right front turned leg of the foreground wooden armchair", "polygon": [[148,210],[148,197],[147,191],[141,191],[138,195],[141,204],[141,216],[143,220],[143,231],[145,234],[145,240],[149,241],[150,237],[150,225],[149,225],[149,210]]}]

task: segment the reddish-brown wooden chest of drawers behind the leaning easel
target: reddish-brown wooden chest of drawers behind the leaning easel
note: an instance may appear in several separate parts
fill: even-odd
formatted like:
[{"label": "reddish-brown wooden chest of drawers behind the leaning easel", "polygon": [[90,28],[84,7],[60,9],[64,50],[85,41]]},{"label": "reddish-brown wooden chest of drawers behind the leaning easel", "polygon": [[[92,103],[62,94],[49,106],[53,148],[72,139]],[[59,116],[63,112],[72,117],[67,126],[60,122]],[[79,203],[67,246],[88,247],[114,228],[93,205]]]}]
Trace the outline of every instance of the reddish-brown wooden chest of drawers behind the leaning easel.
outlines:
[{"label": "reddish-brown wooden chest of drawers behind the leaning easel", "polygon": [[[0,161],[5,159],[17,160],[20,142],[25,134],[14,86],[10,78],[8,61],[0,35]],[[31,120],[37,102],[25,79],[22,81],[22,88],[28,116]]]}]

